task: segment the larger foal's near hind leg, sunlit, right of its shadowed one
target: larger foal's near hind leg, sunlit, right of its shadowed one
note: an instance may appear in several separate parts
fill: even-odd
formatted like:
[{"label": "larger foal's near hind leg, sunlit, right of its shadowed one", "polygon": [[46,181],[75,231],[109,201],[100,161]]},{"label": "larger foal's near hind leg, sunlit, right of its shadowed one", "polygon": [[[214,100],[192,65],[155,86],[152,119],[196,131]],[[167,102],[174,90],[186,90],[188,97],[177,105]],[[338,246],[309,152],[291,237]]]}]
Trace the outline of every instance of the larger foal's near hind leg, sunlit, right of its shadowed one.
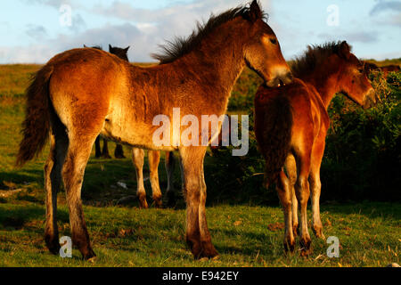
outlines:
[{"label": "larger foal's near hind leg, sunlit, right of its shadowed one", "polygon": [[85,168],[94,144],[93,138],[69,134],[70,145],[62,167],[62,178],[70,209],[70,226],[72,241],[79,248],[84,259],[91,260],[96,255],[91,247],[86,229],[84,211],[81,201],[81,187]]}]

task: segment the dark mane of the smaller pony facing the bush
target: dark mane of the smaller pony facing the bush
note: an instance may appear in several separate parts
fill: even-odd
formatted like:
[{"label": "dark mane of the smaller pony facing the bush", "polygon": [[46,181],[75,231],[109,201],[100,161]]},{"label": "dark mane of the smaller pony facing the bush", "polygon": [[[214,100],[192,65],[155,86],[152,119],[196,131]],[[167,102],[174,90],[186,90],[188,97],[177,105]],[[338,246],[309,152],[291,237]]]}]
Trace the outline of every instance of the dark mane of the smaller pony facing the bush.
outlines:
[{"label": "dark mane of the smaller pony facing the bush", "polygon": [[[317,65],[333,53],[339,53],[341,42],[325,43],[323,45],[308,45],[307,52],[291,62],[291,70],[295,77],[312,72]],[[351,46],[349,46],[351,49]]]}]

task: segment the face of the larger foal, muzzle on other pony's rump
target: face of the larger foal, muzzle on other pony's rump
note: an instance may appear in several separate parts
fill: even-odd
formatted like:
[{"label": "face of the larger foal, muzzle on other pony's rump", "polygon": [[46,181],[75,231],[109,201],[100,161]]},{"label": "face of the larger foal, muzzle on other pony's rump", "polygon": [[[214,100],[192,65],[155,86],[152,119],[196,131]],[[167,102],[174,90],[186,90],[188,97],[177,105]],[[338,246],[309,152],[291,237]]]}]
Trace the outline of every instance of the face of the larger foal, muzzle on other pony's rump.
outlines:
[{"label": "face of the larger foal, muzzle on other pony's rump", "polygon": [[[255,19],[252,20],[252,17]],[[248,67],[257,71],[268,86],[275,87],[281,83],[291,83],[291,69],[282,56],[282,50],[273,29],[263,20],[256,1],[250,6],[250,19],[252,22],[250,41],[244,48]]]}]

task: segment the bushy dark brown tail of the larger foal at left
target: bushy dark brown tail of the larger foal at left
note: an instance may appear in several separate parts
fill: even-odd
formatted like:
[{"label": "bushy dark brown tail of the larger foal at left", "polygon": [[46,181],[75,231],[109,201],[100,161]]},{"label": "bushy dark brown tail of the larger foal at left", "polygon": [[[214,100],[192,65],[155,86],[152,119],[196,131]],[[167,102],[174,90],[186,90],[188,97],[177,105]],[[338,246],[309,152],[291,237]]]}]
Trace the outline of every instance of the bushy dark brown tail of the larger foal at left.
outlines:
[{"label": "bushy dark brown tail of the larger foal at left", "polygon": [[22,167],[34,159],[43,150],[50,129],[49,81],[53,73],[52,66],[45,66],[37,71],[27,89],[25,120],[22,123],[23,139],[20,142],[16,167]]}]

